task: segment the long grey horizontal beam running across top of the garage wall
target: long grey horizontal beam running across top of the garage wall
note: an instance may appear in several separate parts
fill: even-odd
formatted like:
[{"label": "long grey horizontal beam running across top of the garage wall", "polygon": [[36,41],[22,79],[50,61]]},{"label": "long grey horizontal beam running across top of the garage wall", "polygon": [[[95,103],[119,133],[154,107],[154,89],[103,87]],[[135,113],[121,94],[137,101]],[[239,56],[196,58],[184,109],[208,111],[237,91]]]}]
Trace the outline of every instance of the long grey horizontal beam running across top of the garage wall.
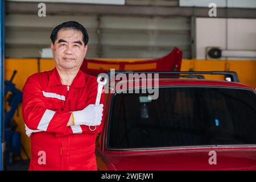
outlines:
[{"label": "long grey horizontal beam running across top of the garage wall", "polygon": [[[123,15],[123,16],[193,16],[209,17],[207,7],[89,5],[81,3],[46,3],[46,15]],[[38,3],[6,1],[6,14],[38,14]],[[217,18],[256,18],[255,9],[217,8]]]}]

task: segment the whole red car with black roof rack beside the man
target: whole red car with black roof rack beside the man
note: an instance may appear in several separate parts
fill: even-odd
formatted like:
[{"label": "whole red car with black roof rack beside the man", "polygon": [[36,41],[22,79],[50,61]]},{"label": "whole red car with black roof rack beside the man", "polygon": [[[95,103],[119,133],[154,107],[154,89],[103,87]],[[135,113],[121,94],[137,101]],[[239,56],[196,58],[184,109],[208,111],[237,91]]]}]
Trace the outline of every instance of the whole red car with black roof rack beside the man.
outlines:
[{"label": "whole red car with black roof rack beside the man", "polygon": [[158,99],[118,93],[143,86],[106,93],[99,170],[256,170],[256,92],[235,72],[159,72]]}]

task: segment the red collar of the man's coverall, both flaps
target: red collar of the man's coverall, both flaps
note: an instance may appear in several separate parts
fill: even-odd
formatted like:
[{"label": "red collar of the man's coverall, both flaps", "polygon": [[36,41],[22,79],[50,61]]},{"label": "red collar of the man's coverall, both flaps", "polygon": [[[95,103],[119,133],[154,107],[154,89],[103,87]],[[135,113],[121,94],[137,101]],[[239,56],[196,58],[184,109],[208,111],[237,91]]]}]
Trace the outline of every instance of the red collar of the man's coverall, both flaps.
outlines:
[{"label": "red collar of the man's coverall, both flaps", "polygon": [[[56,85],[62,85],[62,83],[61,83],[60,75],[57,69],[54,68],[52,69],[51,75],[49,76],[48,86],[56,86]],[[76,77],[73,80],[71,86],[74,88],[85,87],[85,75],[80,69],[79,69],[79,72],[76,74]]]}]

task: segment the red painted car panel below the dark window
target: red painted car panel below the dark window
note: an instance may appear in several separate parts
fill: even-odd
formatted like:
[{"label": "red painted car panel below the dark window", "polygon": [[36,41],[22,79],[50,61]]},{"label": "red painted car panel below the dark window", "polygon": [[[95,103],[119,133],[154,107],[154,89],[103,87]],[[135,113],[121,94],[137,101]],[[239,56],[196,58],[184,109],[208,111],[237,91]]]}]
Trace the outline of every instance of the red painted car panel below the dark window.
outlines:
[{"label": "red painted car panel below the dark window", "polygon": [[209,151],[105,154],[105,160],[110,170],[256,170],[255,150],[215,151],[217,164],[211,165]]}]

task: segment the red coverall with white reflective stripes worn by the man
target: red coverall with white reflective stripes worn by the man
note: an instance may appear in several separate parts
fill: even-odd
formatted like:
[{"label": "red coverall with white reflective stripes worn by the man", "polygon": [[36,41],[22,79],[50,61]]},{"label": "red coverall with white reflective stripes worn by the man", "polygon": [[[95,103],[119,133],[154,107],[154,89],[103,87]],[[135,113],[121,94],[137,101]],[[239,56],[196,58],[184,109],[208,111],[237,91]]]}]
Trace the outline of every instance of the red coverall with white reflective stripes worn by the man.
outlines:
[{"label": "red coverall with white reflective stripes worn by the man", "polygon": [[[67,126],[70,111],[95,104],[97,85],[96,77],[79,71],[68,88],[61,84],[56,68],[27,78],[23,87],[23,119],[29,129],[43,130],[31,134],[28,170],[97,170],[95,141],[104,117],[94,131],[85,125]],[[100,104],[104,104],[104,92]],[[43,154],[46,163],[42,164],[39,160]]]}]

